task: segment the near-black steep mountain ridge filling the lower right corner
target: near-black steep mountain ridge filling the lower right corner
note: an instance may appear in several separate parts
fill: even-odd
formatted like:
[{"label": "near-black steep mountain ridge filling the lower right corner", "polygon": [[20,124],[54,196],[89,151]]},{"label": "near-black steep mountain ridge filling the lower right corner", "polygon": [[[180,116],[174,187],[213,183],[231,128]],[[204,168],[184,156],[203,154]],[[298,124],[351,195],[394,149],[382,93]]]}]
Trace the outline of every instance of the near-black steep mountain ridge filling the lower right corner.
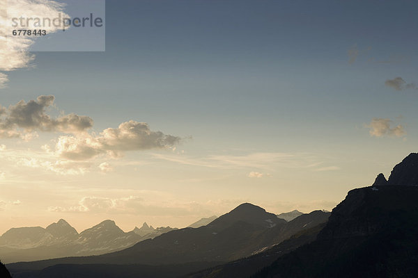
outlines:
[{"label": "near-black steep mountain ridge filling the lower right corner", "polygon": [[417,174],[417,154],[410,154],[389,185],[350,190],[316,240],[253,277],[416,277]]}]

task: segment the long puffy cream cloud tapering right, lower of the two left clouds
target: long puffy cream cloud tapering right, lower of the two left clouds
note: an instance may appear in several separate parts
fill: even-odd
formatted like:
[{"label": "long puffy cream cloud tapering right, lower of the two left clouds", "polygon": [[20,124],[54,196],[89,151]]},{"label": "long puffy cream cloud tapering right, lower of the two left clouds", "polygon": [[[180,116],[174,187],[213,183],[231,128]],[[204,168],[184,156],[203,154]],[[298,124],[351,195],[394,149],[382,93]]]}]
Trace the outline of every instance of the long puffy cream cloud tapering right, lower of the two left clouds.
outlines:
[{"label": "long puffy cream cloud tapering right, lower of the two left clouds", "polygon": [[176,136],[161,131],[151,131],[145,122],[130,120],[117,129],[104,129],[100,135],[60,136],[55,153],[73,161],[86,160],[100,154],[112,157],[123,156],[124,152],[144,149],[163,149],[180,142]]}]

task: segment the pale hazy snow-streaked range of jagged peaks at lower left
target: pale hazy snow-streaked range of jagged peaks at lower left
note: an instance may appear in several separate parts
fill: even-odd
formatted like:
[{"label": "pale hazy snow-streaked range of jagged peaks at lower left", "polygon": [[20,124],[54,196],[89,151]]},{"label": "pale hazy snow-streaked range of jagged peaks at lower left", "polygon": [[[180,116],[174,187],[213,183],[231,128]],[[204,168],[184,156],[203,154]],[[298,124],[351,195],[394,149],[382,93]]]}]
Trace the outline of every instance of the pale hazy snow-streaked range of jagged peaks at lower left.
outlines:
[{"label": "pale hazy snow-streaked range of jagged peaks at lower left", "polygon": [[141,231],[148,229],[144,236],[134,231],[125,233],[112,220],[105,220],[80,234],[63,219],[50,224],[46,229],[12,228],[0,236],[0,258],[11,263],[63,256],[98,255],[123,250],[141,240],[155,238],[173,230],[170,227],[143,227]]}]

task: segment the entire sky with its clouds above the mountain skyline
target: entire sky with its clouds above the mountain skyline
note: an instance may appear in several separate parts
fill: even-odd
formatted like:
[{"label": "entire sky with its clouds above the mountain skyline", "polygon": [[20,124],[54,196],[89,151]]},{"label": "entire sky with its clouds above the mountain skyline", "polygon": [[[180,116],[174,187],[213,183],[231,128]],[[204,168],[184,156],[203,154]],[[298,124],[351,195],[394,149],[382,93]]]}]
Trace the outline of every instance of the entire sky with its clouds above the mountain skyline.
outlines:
[{"label": "entire sky with its clouds above the mountain skyline", "polygon": [[[59,2],[39,13],[71,16]],[[40,1],[20,3],[6,10]],[[105,51],[28,52],[1,33],[0,233],[186,227],[243,202],[330,211],[417,152],[416,1],[105,11]]]}]

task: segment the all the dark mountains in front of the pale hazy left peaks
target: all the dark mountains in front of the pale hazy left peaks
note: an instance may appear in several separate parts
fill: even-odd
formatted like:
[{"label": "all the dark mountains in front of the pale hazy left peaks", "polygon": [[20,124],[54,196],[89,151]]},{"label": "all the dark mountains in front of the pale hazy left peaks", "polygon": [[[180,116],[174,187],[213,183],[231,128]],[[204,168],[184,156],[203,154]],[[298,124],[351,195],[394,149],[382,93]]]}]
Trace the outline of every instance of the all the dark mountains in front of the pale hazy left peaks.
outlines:
[{"label": "all the dark mountains in front of the pale hazy left peaks", "polygon": [[418,154],[350,190],[332,213],[286,221],[245,203],[199,228],[100,256],[7,265],[13,277],[416,277]]}]

